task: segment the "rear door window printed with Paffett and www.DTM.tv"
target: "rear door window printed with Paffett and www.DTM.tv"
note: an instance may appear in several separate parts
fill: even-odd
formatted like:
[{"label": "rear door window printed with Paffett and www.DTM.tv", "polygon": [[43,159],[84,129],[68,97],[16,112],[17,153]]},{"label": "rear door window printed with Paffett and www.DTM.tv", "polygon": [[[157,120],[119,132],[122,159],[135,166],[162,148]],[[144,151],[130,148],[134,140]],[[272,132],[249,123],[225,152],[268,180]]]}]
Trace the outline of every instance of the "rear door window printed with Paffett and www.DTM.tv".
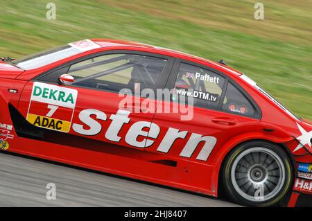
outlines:
[{"label": "rear door window printed with Paffett and www.DTM.tv", "polygon": [[185,100],[191,97],[196,107],[216,109],[220,103],[224,83],[225,78],[212,71],[181,63],[175,81],[173,100],[176,100],[177,96],[185,96]]}]

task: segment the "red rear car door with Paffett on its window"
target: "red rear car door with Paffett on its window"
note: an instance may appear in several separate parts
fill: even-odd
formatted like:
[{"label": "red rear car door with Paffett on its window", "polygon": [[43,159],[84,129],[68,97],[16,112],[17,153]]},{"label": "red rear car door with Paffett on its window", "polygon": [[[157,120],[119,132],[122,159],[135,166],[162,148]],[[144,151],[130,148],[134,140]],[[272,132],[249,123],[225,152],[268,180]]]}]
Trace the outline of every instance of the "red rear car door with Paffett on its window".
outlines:
[{"label": "red rear car door with Paffett on its window", "polygon": [[166,87],[173,89],[171,100],[162,100],[153,118],[162,139],[146,148],[149,160],[175,166],[174,172],[159,177],[187,174],[184,182],[189,185],[214,189],[211,159],[228,139],[252,130],[258,109],[227,76],[200,64],[177,61]]}]

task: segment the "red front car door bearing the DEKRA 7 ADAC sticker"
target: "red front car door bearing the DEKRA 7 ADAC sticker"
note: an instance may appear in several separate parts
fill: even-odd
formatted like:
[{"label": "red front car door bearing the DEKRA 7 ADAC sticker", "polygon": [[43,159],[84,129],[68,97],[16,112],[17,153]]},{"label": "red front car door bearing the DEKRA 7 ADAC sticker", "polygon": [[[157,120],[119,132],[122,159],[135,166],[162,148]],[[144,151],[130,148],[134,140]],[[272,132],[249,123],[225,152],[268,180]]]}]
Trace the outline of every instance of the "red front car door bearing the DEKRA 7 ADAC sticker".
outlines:
[{"label": "red front car door bearing the DEKRA 7 ADAC sticker", "polygon": [[[139,159],[155,113],[155,109],[141,111],[144,98],[139,94],[162,87],[172,63],[160,55],[112,51],[73,61],[31,80],[19,102],[19,112],[35,130],[24,135],[28,139],[25,148],[98,166],[100,158],[103,161],[104,155],[97,157],[101,153]],[[66,73],[74,78],[71,85],[59,81]]]}]

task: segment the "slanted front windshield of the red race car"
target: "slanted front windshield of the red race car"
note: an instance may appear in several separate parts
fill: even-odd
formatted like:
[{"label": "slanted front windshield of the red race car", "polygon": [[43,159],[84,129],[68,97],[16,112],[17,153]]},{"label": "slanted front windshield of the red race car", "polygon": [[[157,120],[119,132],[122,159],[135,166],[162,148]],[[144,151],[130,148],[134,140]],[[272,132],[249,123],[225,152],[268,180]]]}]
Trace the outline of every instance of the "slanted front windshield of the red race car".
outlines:
[{"label": "slanted front windshield of the red race car", "polygon": [[52,48],[33,55],[28,55],[24,58],[19,58],[15,60],[13,64],[20,69],[31,70],[44,67],[47,64],[52,64],[53,62],[69,58],[73,55],[78,55],[79,53],[81,53],[81,51],[78,48],[66,44],[58,48]]}]

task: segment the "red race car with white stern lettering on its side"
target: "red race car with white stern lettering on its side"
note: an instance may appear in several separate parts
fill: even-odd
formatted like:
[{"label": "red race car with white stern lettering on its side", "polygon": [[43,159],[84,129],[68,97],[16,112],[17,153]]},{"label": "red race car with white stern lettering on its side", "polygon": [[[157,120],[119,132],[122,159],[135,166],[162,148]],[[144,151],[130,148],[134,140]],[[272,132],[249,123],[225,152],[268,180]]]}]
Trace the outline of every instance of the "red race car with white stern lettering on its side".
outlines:
[{"label": "red race car with white stern lettering on its side", "polygon": [[2,150],[245,206],[311,206],[311,123],[222,60],[86,39],[3,58],[0,105]]}]

